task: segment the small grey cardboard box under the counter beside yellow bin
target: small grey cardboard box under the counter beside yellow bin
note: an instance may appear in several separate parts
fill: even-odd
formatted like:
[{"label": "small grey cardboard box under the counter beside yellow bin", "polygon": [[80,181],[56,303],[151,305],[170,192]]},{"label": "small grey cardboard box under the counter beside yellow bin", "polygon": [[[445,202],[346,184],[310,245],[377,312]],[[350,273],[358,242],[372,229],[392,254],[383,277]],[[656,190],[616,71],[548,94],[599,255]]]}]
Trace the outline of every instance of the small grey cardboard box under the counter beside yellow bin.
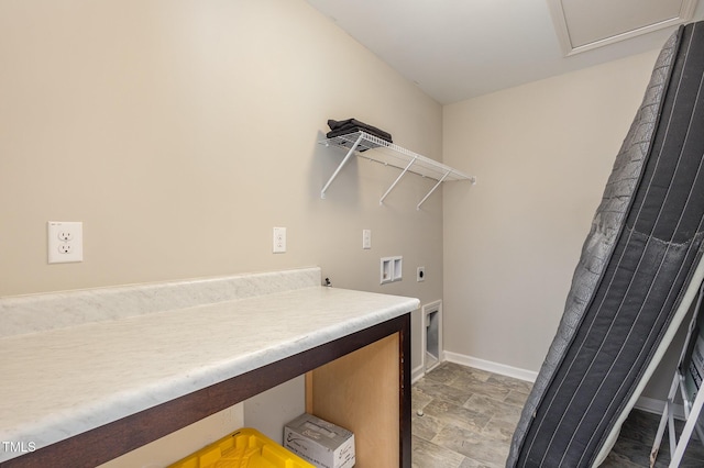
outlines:
[{"label": "small grey cardboard box under the counter beside yellow bin", "polygon": [[284,426],[284,447],[318,468],[354,466],[354,434],[312,414]]}]

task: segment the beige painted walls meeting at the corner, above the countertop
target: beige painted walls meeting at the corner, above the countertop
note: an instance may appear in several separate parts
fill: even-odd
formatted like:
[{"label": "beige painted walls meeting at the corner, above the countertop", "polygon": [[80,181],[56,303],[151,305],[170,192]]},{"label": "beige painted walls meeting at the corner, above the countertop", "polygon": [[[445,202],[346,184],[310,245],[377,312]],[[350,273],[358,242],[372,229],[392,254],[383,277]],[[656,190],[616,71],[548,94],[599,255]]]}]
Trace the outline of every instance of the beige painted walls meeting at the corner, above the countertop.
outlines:
[{"label": "beige painted walls meeting at the corner, above the countertop", "polygon": [[[537,370],[656,55],[442,109],[302,0],[0,2],[0,296],[319,265],[443,299],[446,349]],[[397,171],[355,159],[321,200],[348,116],[479,183],[380,207]],[[47,265],[50,220],[84,222],[84,263]]]}]

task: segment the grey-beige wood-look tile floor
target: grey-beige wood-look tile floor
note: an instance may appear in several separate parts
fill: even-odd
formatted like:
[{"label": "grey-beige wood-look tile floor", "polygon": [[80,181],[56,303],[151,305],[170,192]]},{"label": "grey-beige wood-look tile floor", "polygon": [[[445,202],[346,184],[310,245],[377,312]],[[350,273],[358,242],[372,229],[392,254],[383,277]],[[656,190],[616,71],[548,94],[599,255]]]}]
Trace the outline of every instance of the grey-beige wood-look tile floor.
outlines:
[{"label": "grey-beige wood-look tile floor", "polygon": [[[503,468],[530,387],[484,370],[440,364],[413,387],[414,468]],[[602,468],[648,467],[659,421],[659,415],[634,410]],[[669,461],[666,436],[656,467]],[[704,467],[701,443],[689,444],[680,466]]]}]

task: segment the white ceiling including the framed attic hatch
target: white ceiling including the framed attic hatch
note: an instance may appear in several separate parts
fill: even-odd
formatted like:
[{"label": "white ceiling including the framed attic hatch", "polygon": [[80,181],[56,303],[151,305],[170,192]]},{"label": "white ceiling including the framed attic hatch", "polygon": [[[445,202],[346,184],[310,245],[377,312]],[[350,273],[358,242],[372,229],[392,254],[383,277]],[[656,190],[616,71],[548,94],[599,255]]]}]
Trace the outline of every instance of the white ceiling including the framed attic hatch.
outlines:
[{"label": "white ceiling including the framed attic hatch", "polygon": [[[667,20],[690,0],[307,0],[442,104],[510,88],[646,51],[676,26],[627,38]],[[694,0],[696,1],[696,0]],[[648,4],[650,3],[650,7]],[[628,5],[627,9],[624,5]],[[558,5],[558,8],[556,8]],[[637,5],[632,8],[631,5]],[[568,20],[570,47],[553,14]],[[603,13],[598,13],[604,11]],[[596,12],[596,13],[595,13]],[[557,15],[556,15],[557,18]],[[691,21],[704,19],[700,2]],[[642,23],[645,22],[645,23]],[[641,24],[642,23],[642,24]],[[648,24],[646,24],[648,23]],[[617,41],[594,47],[604,35]],[[602,42],[600,42],[602,41]],[[580,48],[587,44],[587,47]],[[586,49],[585,52],[580,52]]]}]

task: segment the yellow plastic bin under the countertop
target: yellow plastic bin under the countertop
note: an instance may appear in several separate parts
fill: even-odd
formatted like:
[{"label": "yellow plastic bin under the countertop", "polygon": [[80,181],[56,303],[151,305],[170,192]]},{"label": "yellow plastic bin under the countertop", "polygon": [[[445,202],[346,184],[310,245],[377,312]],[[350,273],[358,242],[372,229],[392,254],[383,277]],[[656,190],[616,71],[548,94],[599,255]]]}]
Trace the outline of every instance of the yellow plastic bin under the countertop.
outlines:
[{"label": "yellow plastic bin under the countertop", "polygon": [[244,427],[169,468],[316,468],[264,434]]}]

